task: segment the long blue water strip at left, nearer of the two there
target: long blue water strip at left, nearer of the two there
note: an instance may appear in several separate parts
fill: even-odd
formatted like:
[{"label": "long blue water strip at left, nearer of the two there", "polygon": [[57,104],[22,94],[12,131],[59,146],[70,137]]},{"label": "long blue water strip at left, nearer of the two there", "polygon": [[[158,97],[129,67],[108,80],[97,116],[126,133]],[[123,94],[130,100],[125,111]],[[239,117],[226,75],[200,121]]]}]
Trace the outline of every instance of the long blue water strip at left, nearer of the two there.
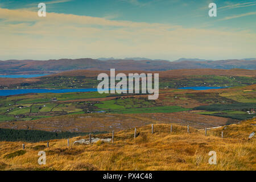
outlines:
[{"label": "long blue water strip at left, nearer of the two there", "polygon": [[25,93],[68,93],[68,92],[96,92],[94,89],[14,89],[14,90],[0,90],[0,96],[12,96],[16,94]]}]

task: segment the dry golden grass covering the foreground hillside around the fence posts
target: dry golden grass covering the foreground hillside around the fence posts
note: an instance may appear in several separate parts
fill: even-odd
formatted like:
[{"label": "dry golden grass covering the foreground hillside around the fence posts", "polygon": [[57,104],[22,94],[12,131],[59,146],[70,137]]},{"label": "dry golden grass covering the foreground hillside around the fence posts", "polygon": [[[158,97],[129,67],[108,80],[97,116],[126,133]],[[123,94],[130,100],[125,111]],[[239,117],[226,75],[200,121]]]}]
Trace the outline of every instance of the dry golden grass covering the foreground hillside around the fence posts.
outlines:
[{"label": "dry golden grass covering the foreground hillside around the fence posts", "polygon": [[[188,134],[187,127],[173,125],[170,133],[170,125],[157,124],[154,134],[151,126],[138,127],[136,139],[134,129],[119,131],[114,144],[72,144],[86,137],[71,138],[70,147],[64,139],[51,140],[49,148],[42,146],[46,142],[25,143],[26,153],[10,159],[5,155],[21,150],[22,142],[0,142],[0,170],[255,170],[255,137],[247,139],[255,131],[252,123],[255,119],[228,126],[223,139],[214,136],[221,129],[209,131],[205,137],[203,131],[193,128]],[[236,127],[241,130],[232,130]],[[111,138],[111,134],[97,137]],[[46,165],[38,164],[40,150],[46,151]],[[216,165],[208,163],[212,150],[217,152]]]}]

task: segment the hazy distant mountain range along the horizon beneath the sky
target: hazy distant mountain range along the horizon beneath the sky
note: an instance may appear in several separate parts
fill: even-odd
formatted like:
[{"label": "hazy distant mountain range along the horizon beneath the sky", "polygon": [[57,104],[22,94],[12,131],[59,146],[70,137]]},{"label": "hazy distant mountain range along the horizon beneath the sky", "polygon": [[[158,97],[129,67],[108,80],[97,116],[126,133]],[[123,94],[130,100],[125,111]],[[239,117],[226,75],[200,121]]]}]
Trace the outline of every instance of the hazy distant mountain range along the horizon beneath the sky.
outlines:
[{"label": "hazy distant mountain range along the horizon beneath the sky", "polygon": [[114,59],[114,60],[98,60],[98,59],[59,59],[59,60],[7,60],[0,61],[0,74],[21,74],[21,73],[52,73],[63,72],[77,69],[88,70],[109,70],[115,68],[117,70],[139,70],[139,71],[167,71],[171,69],[197,69],[197,68],[213,68],[213,69],[256,69],[256,59],[243,60],[201,60],[201,59],[179,59],[176,61],[166,60],[134,60]]}]

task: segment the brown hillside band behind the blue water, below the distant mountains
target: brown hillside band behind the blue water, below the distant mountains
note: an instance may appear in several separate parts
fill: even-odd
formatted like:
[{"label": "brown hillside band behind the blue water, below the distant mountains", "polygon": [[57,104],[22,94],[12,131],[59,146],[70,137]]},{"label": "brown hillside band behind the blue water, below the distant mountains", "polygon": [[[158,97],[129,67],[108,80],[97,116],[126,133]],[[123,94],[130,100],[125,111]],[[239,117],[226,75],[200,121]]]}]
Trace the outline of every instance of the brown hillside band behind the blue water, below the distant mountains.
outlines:
[{"label": "brown hillside band behind the blue water, below the distant mountains", "polygon": [[[43,88],[51,88],[49,86],[52,86],[52,84],[63,84],[63,82],[67,80],[61,80],[63,77],[73,77],[76,81],[79,81],[80,83],[83,82],[82,79],[85,79],[86,82],[89,83],[87,86],[82,86],[82,88],[92,88],[92,86],[97,86],[97,76],[100,73],[107,73],[110,75],[110,70],[108,71],[92,71],[92,70],[76,70],[76,71],[65,71],[61,73],[55,73],[43,77],[35,77],[35,78],[0,78],[0,88],[1,86],[26,86],[31,85],[31,87],[34,88],[42,88],[46,82],[49,82],[51,80],[51,84],[44,86]],[[137,69],[127,71],[115,71],[115,74],[118,73],[125,73],[128,75],[129,73],[159,73],[160,82],[166,81],[172,79],[172,81],[180,82],[180,80],[174,80],[174,78],[183,78],[183,79],[191,79],[195,76],[225,76],[224,80],[228,79],[228,76],[239,76],[239,77],[255,77],[256,76],[256,70],[249,70],[249,69],[175,69],[175,70],[168,70],[168,71],[138,71]],[[69,78],[68,78],[69,79]],[[74,81],[74,80],[71,81]],[[161,80],[162,79],[162,80]],[[214,81],[216,80],[216,81]],[[75,82],[76,82],[75,81]],[[188,82],[191,82],[192,80],[188,80]],[[201,80],[198,81],[205,81],[205,78],[201,78]],[[218,82],[216,77],[212,77],[212,82]],[[243,82],[243,81],[242,81]],[[38,84],[36,84],[38,83]],[[35,84],[35,85],[33,85]],[[81,84],[77,85],[77,88],[80,87]],[[67,86],[67,84],[66,84]],[[161,86],[161,85],[160,85]],[[168,86],[168,85],[167,85]],[[170,86],[170,85],[169,85]],[[56,88],[54,86],[53,88]]]}]

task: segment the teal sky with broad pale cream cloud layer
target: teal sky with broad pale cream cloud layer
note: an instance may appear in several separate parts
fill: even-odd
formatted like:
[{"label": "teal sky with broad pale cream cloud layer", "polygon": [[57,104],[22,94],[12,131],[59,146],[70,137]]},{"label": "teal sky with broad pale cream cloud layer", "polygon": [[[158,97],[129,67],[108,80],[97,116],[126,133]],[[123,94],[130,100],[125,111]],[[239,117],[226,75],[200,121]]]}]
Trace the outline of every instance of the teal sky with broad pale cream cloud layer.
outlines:
[{"label": "teal sky with broad pale cream cloud layer", "polygon": [[0,0],[0,40],[0,60],[250,58],[256,1]]}]

